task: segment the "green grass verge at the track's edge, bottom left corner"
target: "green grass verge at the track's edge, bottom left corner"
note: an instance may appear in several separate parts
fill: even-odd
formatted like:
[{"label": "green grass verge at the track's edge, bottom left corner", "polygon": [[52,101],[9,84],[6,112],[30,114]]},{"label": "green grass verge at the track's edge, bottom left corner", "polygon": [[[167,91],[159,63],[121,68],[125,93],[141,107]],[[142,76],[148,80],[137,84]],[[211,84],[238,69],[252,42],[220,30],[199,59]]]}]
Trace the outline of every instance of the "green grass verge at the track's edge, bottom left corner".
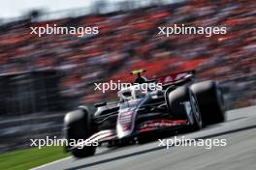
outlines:
[{"label": "green grass verge at the track's edge, bottom left corner", "polygon": [[45,163],[70,156],[63,152],[63,147],[31,148],[0,155],[0,169],[30,169]]}]

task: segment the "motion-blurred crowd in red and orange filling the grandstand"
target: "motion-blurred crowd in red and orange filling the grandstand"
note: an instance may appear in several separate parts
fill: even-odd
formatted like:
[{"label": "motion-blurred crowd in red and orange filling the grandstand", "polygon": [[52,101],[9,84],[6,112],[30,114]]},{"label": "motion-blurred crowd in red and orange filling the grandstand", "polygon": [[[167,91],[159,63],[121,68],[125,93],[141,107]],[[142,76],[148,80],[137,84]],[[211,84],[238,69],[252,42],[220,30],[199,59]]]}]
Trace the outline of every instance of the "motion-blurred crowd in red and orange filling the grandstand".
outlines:
[{"label": "motion-blurred crowd in red and orange filling the grandstand", "polygon": [[[129,71],[135,69],[146,69],[146,75],[151,77],[196,69],[201,80],[225,80],[229,82],[225,87],[246,87],[245,91],[250,93],[243,92],[242,98],[249,100],[240,106],[256,104],[255,9],[254,0],[192,0],[128,12],[11,22],[0,26],[0,73],[60,71],[62,95],[88,103],[110,95],[93,92],[93,82],[130,81]],[[226,26],[227,34],[210,38],[204,35],[166,38],[157,34],[159,26],[175,23]],[[99,35],[39,38],[30,34],[30,27],[46,24],[97,26]],[[238,78],[246,81],[236,83]]]}]

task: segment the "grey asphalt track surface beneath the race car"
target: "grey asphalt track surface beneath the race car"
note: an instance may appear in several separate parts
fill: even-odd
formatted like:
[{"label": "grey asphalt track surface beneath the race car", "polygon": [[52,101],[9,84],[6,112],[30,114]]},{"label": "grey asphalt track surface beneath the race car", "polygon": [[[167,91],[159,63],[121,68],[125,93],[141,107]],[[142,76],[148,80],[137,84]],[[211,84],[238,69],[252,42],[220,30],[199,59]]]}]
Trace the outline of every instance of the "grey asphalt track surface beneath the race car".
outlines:
[{"label": "grey asphalt track surface beneath the race car", "polygon": [[[186,138],[226,139],[224,147],[159,146],[159,141],[118,149],[97,149],[96,156],[73,156],[34,168],[37,170],[256,170],[256,106],[227,112],[227,121]],[[169,137],[169,138],[172,138]]]}]

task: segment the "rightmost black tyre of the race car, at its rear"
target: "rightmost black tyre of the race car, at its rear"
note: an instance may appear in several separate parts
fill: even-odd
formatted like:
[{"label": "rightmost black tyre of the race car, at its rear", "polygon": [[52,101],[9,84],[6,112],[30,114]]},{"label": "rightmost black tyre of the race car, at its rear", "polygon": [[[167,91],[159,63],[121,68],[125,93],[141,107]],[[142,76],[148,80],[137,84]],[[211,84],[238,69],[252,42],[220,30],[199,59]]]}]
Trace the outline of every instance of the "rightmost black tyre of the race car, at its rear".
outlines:
[{"label": "rightmost black tyre of the race car, at its rear", "polygon": [[205,125],[225,121],[225,104],[218,85],[214,81],[193,84],[191,90],[196,95]]}]

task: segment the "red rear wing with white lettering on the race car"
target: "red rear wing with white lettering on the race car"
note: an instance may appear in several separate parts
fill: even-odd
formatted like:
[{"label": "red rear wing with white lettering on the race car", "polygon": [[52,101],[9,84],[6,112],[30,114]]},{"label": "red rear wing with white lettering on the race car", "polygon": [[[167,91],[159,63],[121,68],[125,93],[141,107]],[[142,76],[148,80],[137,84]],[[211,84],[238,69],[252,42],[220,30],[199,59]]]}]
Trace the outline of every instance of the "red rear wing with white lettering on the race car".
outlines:
[{"label": "red rear wing with white lettering on the race car", "polygon": [[162,85],[166,84],[176,84],[183,81],[193,80],[195,78],[196,71],[181,71],[176,73],[171,73],[167,75],[163,75],[160,77],[156,77],[157,83],[162,83]]}]

